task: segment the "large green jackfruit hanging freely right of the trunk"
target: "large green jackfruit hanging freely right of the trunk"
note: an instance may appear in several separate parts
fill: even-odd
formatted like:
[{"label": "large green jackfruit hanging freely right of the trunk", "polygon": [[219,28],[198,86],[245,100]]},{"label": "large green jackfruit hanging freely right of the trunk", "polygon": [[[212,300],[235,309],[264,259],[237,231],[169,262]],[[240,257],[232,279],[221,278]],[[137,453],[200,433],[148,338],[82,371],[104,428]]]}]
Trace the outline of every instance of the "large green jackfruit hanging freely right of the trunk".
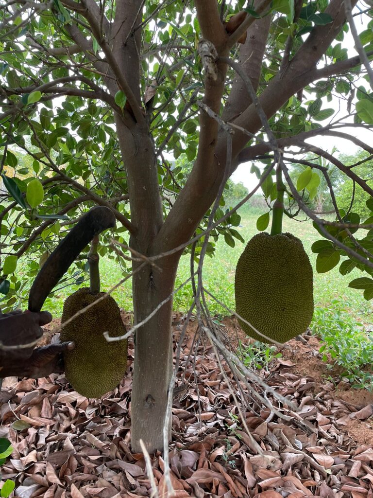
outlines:
[{"label": "large green jackfruit hanging freely right of the trunk", "polygon": [[[284,343],[305,332],[313,314],[313,274],[299,239],[284,233],[255,235],[235,275],[236,312],[259,332]],[[238,320],[253,339],[269,343]]]}]

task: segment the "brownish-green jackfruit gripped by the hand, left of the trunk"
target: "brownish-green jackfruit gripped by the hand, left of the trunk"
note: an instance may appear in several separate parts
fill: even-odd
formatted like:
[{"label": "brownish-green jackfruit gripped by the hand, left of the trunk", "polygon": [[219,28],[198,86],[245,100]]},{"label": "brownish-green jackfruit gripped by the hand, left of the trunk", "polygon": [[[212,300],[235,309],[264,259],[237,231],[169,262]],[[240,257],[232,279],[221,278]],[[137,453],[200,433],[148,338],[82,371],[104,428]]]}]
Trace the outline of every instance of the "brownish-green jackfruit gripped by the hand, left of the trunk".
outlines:
[{"label": "brownish-green jackfruit gripped by the hand, left of the trunk", "polygon": [[[89,288],[74,292],[64,303],[62,323],[101,295],[103,292],[91,294]],[[61,331],[61,342],[75,342],[75,349],[64,357],[66,378],[83,396],[98,398],[111,391],[126,371],[127,340],[107,342],[103,336],[105,331],[110,337],[126,332],[119,307],[111,296],[79,315]]]}]

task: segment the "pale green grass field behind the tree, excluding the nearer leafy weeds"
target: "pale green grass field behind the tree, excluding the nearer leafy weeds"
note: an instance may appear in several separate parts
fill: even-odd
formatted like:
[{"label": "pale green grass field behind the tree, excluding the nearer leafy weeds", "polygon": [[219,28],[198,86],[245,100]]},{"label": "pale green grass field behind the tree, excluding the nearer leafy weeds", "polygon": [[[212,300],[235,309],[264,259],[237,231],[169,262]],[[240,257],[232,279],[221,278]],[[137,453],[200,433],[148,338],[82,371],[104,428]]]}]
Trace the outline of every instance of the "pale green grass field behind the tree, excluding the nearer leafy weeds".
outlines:
[{"label": "pale green grass field behind the tree, excluding the nearer leafy weeds", "polygon": [[[260,213],[252,211],[241,212],[241,226],[238,228],[245,241],[248,241],[257,233],[256,220]],[[302,240],[305,250],[310,256],[312,265],[315,267],[316,255],[311,252],[311,245],[320,239],[319,234],[312,227],[310,221],[297,222],[284,219],[283,231],[288,231]],[[244,244],[236,241],[236,246],[232,249],[224,243],[221,238],[217,243],[215,256],[205,257],[204,263],[204,286],[214,294],[226,306],[234,310],[234,272],[237,260],[244,249]],[[100,261],[101,286],[102,290],[107,290],[115,285],[121,278],[122,273],[119,265],[108,258],[101,258]],[[177,286],[179,286],[189,276],[189,256],[183,256],[178,271]],[[349,312],[350,316],[364,318],[367,324],[373,323],[372,301],[363,298],[363,292],[350,289],[348,283],[356,277],[362,276],[359,270],[353,270],[350,274],[342,276],[338,271],[338,266],[328,273],[318,274],[314,271],[314,294],[315,304],[318,307],[327,308],[331,303],[340,303],[340,308]],[[63,300],[71,294],[77,287],[69,286],[59,291],[53,299],[48,300],[46,308],[51,309],[55,316],[59,316],[62,311]],[[130,280],[113,293],[119,306],[125,310],[132,310],[132,289]],[[188,283],[175,296],[175,310],[184,312],[191,302],[191,285]],[[209,301],[211,312],[219,315],[227,315],[228,312],[219,306],[215,301]]]}]

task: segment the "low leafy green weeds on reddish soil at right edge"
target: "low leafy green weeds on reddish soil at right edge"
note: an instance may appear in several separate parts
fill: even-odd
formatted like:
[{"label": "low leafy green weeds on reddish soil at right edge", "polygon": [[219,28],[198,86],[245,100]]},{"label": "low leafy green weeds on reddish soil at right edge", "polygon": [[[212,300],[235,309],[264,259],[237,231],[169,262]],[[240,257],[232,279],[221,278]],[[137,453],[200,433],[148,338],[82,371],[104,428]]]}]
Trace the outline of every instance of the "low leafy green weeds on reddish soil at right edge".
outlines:
[{"label": "low leafy green weeds on reddish soil at right edge", "polygon": [[327,308],[315,308],[311,328],[324,343],[320,348],[323,361],[328,362],[329,355],[333,365],[342,367],[341,375],[353,387],[373,390],[373,373],[367,371],[372,363],[373,336],[351,317],[341,301],[333,300]]}]

